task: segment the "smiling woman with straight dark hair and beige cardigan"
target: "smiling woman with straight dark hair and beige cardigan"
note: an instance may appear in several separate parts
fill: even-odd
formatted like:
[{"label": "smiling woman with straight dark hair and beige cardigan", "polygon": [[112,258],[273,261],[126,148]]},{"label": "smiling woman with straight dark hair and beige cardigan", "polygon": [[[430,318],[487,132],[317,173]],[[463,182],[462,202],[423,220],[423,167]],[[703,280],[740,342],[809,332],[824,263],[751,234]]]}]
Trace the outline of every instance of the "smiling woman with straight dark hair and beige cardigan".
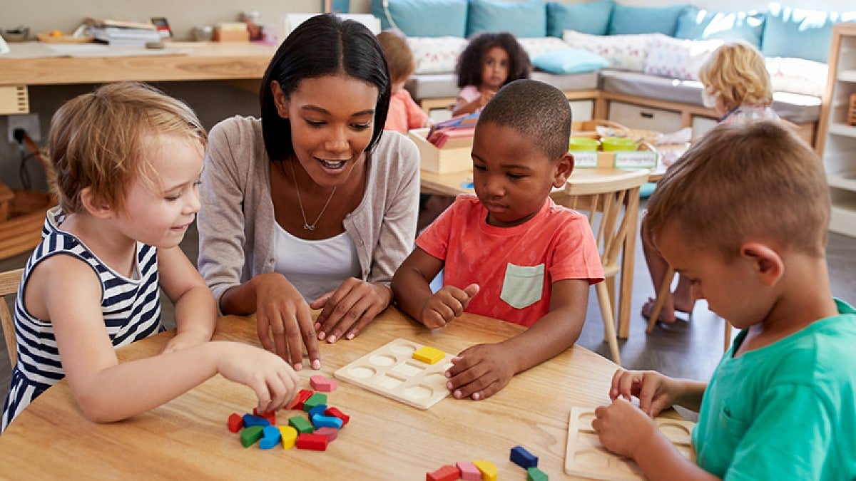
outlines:
[{"label": "smiling woman with straight dark hair and beige cardigan", "polygon": [[389,306],[412,249],[419,151],[383,132],[389,92],[372,32],[317,15],[270,62],[261,119],[209,134],[199,272],[220,312],[255,312],[262,345],[295,369],[303,345],[318,369],[317,339],[351,339]]}]

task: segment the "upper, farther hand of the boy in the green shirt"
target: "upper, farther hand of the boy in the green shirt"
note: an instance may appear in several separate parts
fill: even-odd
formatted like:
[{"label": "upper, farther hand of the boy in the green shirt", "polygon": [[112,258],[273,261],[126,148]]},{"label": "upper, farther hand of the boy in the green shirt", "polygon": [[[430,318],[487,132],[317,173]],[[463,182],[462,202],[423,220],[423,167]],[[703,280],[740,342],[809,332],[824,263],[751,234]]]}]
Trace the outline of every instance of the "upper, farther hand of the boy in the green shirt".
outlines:
[{"label": "upper, farther hand of the boy in the green shirt", "polygon": [[675,404],[675,389],[670,377],[657,371],[625,371],[619,369],[612,377],[609,387],[609,399],[623,398],[631,401],[631,396],[639,398],[639,409],[651,418],[663,409]]}]

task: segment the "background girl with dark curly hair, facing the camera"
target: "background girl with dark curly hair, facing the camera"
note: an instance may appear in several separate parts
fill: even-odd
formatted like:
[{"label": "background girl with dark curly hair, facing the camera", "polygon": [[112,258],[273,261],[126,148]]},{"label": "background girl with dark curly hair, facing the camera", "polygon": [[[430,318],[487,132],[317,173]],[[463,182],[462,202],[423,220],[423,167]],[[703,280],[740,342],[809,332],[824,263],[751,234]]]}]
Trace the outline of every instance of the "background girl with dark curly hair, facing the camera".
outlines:
[{"label": "background girl with dark curly hair, facing the camera", "polygon": [[529,56],[513,34],[479,33],[467,43],[455,66],[461,92],[452,116],[479,112],[502,86],[528,79],[531,71]]}]

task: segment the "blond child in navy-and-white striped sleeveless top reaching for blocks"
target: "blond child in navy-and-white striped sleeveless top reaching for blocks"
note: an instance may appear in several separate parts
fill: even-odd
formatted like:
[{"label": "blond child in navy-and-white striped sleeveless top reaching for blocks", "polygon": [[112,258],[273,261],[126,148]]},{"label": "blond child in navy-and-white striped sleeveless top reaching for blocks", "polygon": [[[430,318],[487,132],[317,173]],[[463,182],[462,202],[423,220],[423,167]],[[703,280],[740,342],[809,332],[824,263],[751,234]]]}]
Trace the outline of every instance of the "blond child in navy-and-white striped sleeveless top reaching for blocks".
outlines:
[{"label": "blond child in navy-and-white striped sleeveless top reaching for blocks", "polygon": [[[293,397],[297,377],[276,354],[210,342],[217,306],[179,246],[199,211],[205,142],[193,110],[142,84],[101,86],[56,111],[59,205],[18,288],[3,430],[63,377],[94,422],[158,407],[217,373],[253,389],[261,410]],[[175,337],[157,356],[119,363],[116,347],[163,331],[159,288],[175,304]]]}]

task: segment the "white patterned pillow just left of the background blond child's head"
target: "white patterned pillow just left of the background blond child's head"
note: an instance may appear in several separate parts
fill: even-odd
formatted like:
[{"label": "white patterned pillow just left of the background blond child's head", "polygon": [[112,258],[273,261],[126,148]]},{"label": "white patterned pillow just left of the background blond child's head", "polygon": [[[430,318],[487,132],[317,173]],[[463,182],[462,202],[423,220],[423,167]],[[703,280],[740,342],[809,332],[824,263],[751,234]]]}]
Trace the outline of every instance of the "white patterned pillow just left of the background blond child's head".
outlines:
[{"label": "white patterned pillow just left of the background blond child's head", "polygon": [[720,39],[654,39],[645,59],[645,74],[678,80],[698,80],[698,70],[710,53],[722,45]]}]

